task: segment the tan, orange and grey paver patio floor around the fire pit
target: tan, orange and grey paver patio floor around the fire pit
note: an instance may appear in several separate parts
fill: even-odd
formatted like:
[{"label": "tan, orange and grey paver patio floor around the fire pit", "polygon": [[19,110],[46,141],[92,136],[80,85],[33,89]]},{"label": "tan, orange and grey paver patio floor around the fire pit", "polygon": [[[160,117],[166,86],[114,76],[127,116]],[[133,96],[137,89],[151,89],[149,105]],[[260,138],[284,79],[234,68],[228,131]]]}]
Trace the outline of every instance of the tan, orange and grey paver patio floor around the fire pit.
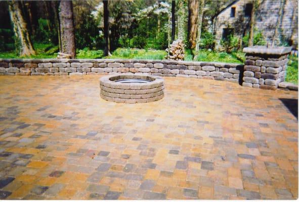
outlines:
[{"label": "tan, orange and grey paver patio floor around the fire pit", "polygon": [[0,199],[298,197],[297,92],[164,78],[116,104],[99,78],[0,77]]}]

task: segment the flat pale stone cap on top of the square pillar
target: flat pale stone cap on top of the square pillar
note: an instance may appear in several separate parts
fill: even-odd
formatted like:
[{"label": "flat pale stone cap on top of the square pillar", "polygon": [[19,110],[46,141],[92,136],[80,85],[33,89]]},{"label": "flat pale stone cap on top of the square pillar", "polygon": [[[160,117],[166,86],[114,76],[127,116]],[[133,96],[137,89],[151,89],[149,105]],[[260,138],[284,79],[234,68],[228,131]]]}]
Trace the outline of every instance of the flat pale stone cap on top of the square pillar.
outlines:
[{"label": "flat pale stone cap on top of the square pillar", "polygon": [[243,48],[243,53],[248,54],[266,54],[266,55],[284,55],[291,52],[292,47],[274,46],[267,47],[263,45],[254,45]]}]

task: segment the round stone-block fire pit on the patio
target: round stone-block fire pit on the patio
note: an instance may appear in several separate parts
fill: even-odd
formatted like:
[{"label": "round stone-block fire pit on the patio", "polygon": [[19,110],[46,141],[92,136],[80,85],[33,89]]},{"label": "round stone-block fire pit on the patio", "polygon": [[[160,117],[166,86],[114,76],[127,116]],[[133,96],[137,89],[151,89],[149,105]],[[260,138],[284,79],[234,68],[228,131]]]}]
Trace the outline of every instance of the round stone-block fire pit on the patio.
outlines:
[{"label": "round stone-block fire pit on the patio", "polygon": [[164,97],[164,80],[150,75],[121,74],[100,79],[101,97],[115,103],[149,103]]}]

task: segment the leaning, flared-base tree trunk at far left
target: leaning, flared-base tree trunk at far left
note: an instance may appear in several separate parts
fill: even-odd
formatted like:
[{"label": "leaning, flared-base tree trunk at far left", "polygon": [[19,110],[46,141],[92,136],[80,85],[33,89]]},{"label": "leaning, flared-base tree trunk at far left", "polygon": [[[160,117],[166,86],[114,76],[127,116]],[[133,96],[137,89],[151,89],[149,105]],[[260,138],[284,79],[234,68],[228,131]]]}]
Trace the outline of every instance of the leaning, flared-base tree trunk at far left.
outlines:
[{"label": "leaning, flared-base tree trunk at far left", "polygon": [[27,24],[18,1],[8,1],[11,21],[14,25],[15,46],[20,56],[35,55]]}]

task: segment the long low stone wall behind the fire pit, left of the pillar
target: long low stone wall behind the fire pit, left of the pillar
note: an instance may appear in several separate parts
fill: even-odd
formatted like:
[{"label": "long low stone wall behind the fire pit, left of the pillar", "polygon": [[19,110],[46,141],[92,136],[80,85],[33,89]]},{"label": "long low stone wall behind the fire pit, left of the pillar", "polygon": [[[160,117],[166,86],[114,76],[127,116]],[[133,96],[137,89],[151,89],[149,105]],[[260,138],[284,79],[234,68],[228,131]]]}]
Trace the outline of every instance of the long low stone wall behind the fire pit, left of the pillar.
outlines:
[{"label": "long low stone wall behind the fire pit, left of the pillar", "polygon": [[0,59],[0,75],[93,75],[130,72],[226,80],[241,84],[243,65],[167,60]]}]

